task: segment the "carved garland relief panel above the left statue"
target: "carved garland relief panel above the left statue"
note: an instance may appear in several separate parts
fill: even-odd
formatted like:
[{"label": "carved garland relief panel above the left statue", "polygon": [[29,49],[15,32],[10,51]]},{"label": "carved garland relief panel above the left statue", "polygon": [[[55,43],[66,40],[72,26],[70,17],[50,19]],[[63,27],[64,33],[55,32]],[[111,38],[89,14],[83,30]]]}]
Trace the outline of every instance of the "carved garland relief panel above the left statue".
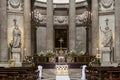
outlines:
[{"label": "carved garland relief panel above the left statue", "polygon": [[9,10],[9,11],[23,11],[23,0],[8,0],[7,10]]}]

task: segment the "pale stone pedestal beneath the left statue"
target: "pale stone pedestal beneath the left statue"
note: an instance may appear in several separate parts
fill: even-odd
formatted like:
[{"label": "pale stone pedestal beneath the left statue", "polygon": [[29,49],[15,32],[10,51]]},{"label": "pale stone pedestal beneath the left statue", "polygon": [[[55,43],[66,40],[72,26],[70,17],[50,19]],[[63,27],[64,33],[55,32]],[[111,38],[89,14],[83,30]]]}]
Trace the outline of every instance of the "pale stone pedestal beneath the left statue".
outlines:
[{"label": "pale stone pedestal beneath the left statue", "polygon": [[21,52],[22,52],[21,48],[12,48],[11,59],[16,60],[16,63],[15,63],[16,67],[22,66],[22,64],[21,64]]}]

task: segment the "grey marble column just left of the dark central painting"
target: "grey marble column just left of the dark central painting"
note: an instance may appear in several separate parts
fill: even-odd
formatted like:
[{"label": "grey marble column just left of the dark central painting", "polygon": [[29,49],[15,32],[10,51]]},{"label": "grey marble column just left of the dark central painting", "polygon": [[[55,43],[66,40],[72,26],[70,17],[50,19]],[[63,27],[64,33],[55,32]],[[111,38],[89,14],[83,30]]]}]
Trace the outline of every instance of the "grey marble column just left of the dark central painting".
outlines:
[{"label": "grey marble column just left of the dark central painting", "polygon": [[53,0],[47,0],[47,50],[53,50]]}]

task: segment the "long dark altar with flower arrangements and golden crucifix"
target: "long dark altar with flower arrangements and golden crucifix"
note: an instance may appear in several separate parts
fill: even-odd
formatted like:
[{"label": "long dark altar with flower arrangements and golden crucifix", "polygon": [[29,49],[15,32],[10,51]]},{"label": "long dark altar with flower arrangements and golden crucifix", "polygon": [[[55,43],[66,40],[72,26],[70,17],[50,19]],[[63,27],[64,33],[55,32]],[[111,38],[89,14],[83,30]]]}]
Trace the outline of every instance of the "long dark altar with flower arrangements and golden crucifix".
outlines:
[{"label": "long dark altar with flower arrangements and golden crucifix", "polygon": [[62,46],[63,41],[62,38],[59,39],[60,48],[58,51],[41,51],[39,54],[34,55],[35,66],[41,65],[43,68],[55,68],[56,65],[66,64],[69,68],[80,68],[81,65],[87,65],[90,62],[91,56],[83,51],[81,51],[82,54],[77,53],[75,50],[65,51]]}]

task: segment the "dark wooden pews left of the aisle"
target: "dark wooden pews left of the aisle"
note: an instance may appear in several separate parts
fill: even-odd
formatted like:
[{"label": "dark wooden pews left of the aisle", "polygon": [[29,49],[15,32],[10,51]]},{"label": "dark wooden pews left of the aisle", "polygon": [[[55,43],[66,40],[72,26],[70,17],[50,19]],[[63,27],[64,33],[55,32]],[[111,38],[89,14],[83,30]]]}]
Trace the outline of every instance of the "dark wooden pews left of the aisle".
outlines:
[{"label": "dark wooden pews left of the aisle", "polygon": [[2,80],[33,80],[34,76],[35,69],[32,67],[0,68],[0,78]]}]

